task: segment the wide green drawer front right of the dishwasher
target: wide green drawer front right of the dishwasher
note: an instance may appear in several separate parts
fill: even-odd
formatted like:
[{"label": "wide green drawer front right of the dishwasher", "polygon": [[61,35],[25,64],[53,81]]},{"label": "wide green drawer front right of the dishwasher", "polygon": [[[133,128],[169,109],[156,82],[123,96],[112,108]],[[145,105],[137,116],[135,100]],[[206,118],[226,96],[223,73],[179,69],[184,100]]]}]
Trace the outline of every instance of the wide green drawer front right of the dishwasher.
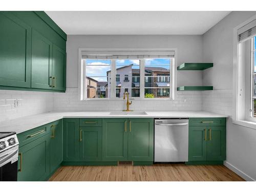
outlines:
[{"label": "wide green drawer front right of the dishwasher", "polygon": [[226,126],[226,118],[189,118],[189,126]]}]

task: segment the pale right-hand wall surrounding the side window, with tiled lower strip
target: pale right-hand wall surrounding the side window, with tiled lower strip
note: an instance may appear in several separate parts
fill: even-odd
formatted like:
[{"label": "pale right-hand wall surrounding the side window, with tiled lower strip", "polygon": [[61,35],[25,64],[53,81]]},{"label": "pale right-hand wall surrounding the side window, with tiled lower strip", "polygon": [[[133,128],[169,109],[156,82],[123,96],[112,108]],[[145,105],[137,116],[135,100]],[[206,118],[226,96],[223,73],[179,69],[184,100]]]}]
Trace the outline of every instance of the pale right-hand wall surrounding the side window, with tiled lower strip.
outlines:
[{"label": "pale right-hand wall surrounding the side window, with tiled lower strip", "polygon": [[[255,15],[256,11],[231,12],[203,35],[203,60],[214,62],[204,70],[203,84],[214,91],[202,93],[205,111],[232,115],[233,28]],[[256,129],[227,121],[226,165],[246,180],[256,180]]]}]

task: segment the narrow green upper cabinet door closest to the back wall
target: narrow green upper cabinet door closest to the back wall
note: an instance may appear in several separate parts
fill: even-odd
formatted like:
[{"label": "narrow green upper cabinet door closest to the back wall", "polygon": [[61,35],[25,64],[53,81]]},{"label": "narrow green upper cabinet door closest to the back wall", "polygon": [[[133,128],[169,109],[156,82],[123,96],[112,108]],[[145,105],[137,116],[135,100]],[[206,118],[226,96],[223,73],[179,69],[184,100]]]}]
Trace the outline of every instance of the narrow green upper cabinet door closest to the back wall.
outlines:
[{"label": "narrow green upper cabinet door closest to the back wall", "polygon": [[66,90],[66,52],[53,45],[52,80],[53,90]]}]

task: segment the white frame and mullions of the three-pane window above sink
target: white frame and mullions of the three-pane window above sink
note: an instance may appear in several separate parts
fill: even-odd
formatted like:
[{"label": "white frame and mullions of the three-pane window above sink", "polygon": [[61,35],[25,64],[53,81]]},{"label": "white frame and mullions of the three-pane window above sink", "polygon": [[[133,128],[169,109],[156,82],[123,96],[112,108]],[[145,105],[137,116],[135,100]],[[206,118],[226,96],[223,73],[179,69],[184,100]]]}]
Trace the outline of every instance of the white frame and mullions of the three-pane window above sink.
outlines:
[{"label": "white frame and mullions of the three-pane window above sink", "polygon": [[[131,97],[135,100],[174,100],[177,95],[177,57],[178,50],[177,48],[157,48],[157,49],[98,49],[98,48],[79,48],[78,49],[78,90],[79,90],[79,99],[84,101],[90,100],[122,100],[122,98],[117,98],[115,89],[109,89],[110,97],[109,98],[86,98],[86,91],[84,91],[84,74],[86,74],[86,65],[82,62],[82,51],[173,51],[174,57],[172,58],[173,62],[170,66],[170,78],[172,79],[172,84],[169,90],[169,98],[144,98],[144,60],[141,59],[140,62],[140,97]],[[105,59],[104,59],[105,60]],[[115,60],[111,59],[111,84],[115,84],[116,80],[116,68]],[[142,64],[143,63],[143,64]],[[114,69],[114,70],[113,70]]]}]

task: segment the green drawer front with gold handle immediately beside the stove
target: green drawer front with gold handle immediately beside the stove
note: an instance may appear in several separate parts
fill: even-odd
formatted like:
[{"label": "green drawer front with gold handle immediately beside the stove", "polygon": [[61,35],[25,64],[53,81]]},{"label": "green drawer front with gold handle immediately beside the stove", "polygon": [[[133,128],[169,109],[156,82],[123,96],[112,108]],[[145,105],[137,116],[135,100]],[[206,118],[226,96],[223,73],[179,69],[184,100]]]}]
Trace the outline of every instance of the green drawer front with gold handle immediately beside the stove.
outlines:
[{"label": "green drawer front with gold handle immediately beside the stove", "polygon": [[48,133],[50,133],[50,127],[51,124],[46,124],[42,126],[38,126],[35,129],[17,134],[18,141],[19,141],[19,147],[26,145],[39,137],[42,137]]}]

